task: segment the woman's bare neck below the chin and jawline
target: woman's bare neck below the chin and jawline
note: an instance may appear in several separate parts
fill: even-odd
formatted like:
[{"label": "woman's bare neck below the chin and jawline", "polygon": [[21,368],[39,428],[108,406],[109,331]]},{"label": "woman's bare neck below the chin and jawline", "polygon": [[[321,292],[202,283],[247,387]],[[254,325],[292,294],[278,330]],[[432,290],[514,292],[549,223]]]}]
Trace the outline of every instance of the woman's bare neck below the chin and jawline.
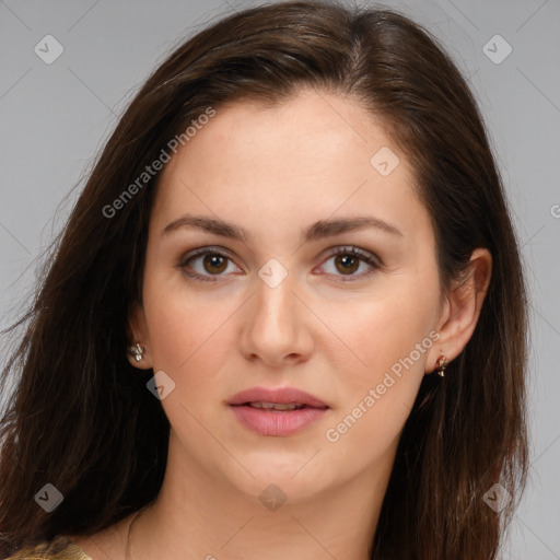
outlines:
[{"label": "woman's bare neck below the chin and jawline", "polygon": [[255,481],[254,494],[240,490],[188,464],[173,439],[158,499],[131,526],[127,560],[370,559],[394,453],[375,470],[301,498],[298,476],[283,486]]}]

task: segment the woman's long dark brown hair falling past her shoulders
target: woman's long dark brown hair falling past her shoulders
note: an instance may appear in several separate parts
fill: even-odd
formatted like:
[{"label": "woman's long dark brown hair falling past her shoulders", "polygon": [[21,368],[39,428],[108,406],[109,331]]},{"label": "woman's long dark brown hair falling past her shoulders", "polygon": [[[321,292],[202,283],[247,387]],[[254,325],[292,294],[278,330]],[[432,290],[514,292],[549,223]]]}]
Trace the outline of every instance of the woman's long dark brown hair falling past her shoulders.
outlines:
[{"label": "woman's long dark brown hair falling past her shoulders", "polygon": [[[281,2],[228,16],[177,48],[143,85],[93,168],[3,371],[19,374],[1,420],[0,536],[11,552],[93,534],[159,492],[168,421],[127,361],[128,311],[141,301],[159,175],[113,218],[112,205],[208,107],[276,103],[314,88],[359,100],[386,124],[432,218],[444,289],[476,247],[492,278],[476,329],[424,376],[405,424],[372,559],[494,559],[527,472],[527,310],[520,248],[476,102],[438,40],[392,10]],[[145,376],[143,376],[145,375]],[[50,514],[34,495],[52,483]],[[483,494],[501,483],[500,513]]]}]

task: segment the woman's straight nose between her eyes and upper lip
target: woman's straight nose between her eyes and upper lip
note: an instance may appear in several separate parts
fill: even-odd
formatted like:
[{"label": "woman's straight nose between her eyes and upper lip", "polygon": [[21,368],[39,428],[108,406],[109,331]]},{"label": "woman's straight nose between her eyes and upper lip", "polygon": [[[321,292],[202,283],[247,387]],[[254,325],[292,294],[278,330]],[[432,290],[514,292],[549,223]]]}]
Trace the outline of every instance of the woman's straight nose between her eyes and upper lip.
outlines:
[{"label": "woman's straight nose between her eyes and upper lip", "polygon": [[241,340],[244,357],[271,366],[308,360],[314,347],[313,313],[298,294],[295,275],[288,271],[277,285],[257,277],[255,284],[255,293],[244,306]]}]

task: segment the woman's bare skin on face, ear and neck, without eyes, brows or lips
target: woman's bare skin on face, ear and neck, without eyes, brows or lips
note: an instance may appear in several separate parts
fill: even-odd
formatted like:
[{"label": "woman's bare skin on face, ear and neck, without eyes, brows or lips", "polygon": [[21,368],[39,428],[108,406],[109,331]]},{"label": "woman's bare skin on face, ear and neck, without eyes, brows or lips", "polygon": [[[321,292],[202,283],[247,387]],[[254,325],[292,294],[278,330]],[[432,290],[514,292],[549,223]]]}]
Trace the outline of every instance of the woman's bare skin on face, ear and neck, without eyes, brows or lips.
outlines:
[{"label": "woman's bare skin on face, ear and neck, without eyes, brows or lips", "polygon": [[[370,164],[382,147],[400,160],[388,176]],[[406,155],[378,120],[351,100],[313,91],[273,107],[219,107],[166,164],[130,341],[145,348],[135,366],[175,383],[161,401],[172,431],[161,492],[132,528],[135,560],[369,558],[422,377],[468,342],[491,273],[490,254],[476,249],[466,280],[442,294],[433,230],[412,185]],[[186,212],[232,222],[248,238],[187,228],[162,235]],[[300,237],[318,220],[352,215],[380,218],[402,235],[362,229]],[[226,267],[217,277],[215,265],[198,257],[190,269],[218,281],[189,278],[177,264],[208,246],[221,247]],[[372,253],[382,266],[359,259],[345,276],[332,257],[339,246]],[[258,276],[270,258],[288,271],[273,289]],[[327,441],[326,431],[431,331],[439,340],[337,442]],[[296,386],[330,409],[296,434],[259,435],[225,405],[256,385]],[[258,498],[269,485],[287,497],[273,512]],[[71,538],[94,560],[124,559],[131,518]]]}]

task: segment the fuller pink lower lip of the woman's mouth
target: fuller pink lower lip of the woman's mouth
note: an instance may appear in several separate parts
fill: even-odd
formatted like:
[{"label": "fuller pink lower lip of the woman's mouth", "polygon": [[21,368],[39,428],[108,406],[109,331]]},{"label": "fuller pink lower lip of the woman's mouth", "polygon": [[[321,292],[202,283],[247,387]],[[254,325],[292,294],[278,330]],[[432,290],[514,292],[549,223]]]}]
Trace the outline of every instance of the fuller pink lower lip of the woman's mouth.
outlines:
[{"label": "fuller pink lower lip of the woman's mouth", "polygon": [[246,428],[260,435],[291,435],[316,422],[328,410],[304,407],[296,410],[265,410],[248,405],[231,406]]}]

